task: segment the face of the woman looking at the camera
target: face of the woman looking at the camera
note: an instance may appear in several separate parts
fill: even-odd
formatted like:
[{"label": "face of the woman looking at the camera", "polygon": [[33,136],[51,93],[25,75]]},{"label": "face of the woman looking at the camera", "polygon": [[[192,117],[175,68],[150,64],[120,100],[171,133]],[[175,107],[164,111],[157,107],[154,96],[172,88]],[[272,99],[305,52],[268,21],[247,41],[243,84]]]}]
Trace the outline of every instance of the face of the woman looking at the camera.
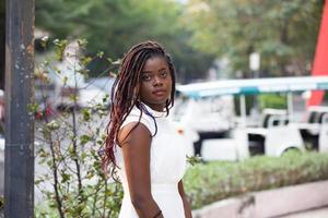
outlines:
[{"label": "face of the woman looking at the camera", "polygon": [[145,61],[141,72],[140,98],[153,110],[163,111],[172,92],[172,75],[164,57]]}]

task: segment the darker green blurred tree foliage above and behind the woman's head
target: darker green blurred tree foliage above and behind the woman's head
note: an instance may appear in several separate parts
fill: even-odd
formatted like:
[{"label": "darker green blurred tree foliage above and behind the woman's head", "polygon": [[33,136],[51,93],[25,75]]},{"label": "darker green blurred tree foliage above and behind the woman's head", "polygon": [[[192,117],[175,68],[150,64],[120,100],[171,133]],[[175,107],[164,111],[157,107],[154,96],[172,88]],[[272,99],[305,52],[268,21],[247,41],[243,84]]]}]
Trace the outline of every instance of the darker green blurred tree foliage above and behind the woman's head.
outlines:
[{"label": "darker green blurred tree foliage above and behind the woman's head", "polygon": [[172,53],[179,81],[186,82],[203,77],[214,57],[188,44],[191,33],[180,22],[183,13],[181,4],[168,0],[38,0],[36,26],[54,37],[86,38],[89,52],[104,50],[113,59],[141,40],[155,39]]}]

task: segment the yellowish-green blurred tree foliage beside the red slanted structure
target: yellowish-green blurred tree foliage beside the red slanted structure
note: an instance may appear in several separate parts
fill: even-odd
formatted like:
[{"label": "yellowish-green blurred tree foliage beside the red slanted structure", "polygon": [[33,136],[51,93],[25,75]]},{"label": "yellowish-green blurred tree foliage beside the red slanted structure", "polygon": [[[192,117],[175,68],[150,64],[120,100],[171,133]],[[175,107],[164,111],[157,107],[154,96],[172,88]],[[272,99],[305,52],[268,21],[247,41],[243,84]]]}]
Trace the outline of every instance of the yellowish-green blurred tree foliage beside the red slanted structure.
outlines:
[{"label": "yellowish-green blurred tree foliage beside the red slanted structure", "polygon": [[234,72],[248,72],[251,52],[261,74],[306,74],[314,58],[323,0],[192,0],[192,45],[227,57]]}]

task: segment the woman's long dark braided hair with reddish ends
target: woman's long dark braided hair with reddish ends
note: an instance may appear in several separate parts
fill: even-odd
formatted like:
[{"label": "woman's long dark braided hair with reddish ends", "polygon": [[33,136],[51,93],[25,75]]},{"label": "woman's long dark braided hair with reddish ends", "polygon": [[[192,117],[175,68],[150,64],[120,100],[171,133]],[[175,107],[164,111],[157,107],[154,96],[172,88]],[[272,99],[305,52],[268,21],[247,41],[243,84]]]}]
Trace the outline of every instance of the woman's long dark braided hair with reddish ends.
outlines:
[{"label": "woman's long dark braided hair with reddish ends", "polygon": [[132,110],[133,106],[137,106],[140,109],[141,114],[139,122],[132,128],[132,130],[140,123],[144,108],[139,100],[139,84],[141,81],[141,73],[147,60],[154,57],[165,58],[172,76],[171,98],[167,99],[165,104],[167,114],[174,105],[175,69],[168,53],[156,41],[149,40],[133,46],[125,55],[119,69],[119,74],[112,87],[110,121],[107,125],[105,148],[102,155],[102,167],[105,172],[107,172],[108,167],[110,167],[110,172],[113,174],[115,168],[117,167],[114,154],[116,149],[115,146],[118,144],[118,133],[121,124]]}]

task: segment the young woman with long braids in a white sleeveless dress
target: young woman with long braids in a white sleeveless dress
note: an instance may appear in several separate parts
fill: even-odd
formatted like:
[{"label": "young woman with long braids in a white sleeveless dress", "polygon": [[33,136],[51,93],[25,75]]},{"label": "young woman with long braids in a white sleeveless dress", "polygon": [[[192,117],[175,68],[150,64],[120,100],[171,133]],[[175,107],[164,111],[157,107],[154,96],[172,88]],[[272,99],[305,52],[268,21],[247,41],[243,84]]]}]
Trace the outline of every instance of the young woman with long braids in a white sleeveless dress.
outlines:
[{"label": "young woman with long braids in a white sleeveless dress", "polygon": [[175,70],[155,41],[133,46],[112,89],[105,167],[124,186],[119,218],[190,218],[183,175],[186,152],[167,116],[174,105]]}]

